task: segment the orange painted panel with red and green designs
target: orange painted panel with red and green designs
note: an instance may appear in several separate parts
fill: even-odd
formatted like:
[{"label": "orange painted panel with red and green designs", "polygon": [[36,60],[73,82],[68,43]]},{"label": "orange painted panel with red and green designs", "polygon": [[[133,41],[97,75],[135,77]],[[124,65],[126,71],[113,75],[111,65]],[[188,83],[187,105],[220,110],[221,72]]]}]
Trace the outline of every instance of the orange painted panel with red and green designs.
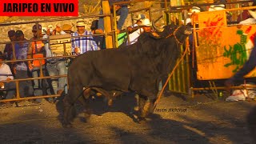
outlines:
[{"label": "orange painted panel with red and green designs", "polygon": [[[197,77],[200,80],[230,78],[246,62],[256,35],[256,25],[226,25],[225,11],[197,14]],[[246,77],[256,77],[256,70]]]}]

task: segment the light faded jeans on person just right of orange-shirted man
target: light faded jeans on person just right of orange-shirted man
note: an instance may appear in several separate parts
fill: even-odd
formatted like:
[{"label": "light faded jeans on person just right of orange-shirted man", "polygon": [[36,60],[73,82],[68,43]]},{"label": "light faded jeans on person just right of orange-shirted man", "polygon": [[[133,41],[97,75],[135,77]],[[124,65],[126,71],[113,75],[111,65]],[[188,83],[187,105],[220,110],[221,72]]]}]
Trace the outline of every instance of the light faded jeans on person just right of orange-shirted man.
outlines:
[{"label": "light faded jeans on person just right of orange-shirted man", "polygon": [[[67,74],[65,61],[48,62],[46,67],[50,76]],[[55,94],[57,94],[58,90],[65,90],[65,93],[67,92],[66,77],[51,79],[51,85],[53,86]]]}]

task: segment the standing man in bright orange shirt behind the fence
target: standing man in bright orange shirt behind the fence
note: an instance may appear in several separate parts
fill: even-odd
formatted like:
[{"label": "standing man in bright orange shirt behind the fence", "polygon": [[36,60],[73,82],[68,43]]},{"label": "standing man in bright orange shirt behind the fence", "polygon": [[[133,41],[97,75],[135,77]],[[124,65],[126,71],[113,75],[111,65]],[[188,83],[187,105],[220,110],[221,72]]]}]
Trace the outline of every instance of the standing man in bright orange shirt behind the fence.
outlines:
[{"label": "standing man in bright orange shirt behind the fence", "polygon": [[[46,50],[44,47],[44,42],[40,40],[42,38],[42,26],[40,24],[36,24],[32,27],[32,32],[34,37],[30,40],[36,40],[30,42],[30,46],[27,53],[27,58],[45,58]],[[33,60],[28,61],[28,67],[32,72],[33,78],[40,77],[40,66],[42,66],[42,76],[46,76],[46,61],[42,60]],[[46,94],[50,94],[49,85],[47,79],[34,79],[34,96],[40,96],[43,94],[43,90],[46,90]],[[51,100],[50,100],[51,101]],[[36,99],[34,101],[36,103],[42,102],[41,98]]]}]

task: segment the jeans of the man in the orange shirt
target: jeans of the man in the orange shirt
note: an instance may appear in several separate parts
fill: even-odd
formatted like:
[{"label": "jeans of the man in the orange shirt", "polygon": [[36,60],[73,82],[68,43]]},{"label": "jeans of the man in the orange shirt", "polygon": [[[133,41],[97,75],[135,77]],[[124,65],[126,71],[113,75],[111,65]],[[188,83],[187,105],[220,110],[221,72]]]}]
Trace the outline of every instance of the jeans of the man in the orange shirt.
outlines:
[{"label": "jeans of the man in the orange shirt", "polygon": [[[43,76],[46,76],[46,66],[42,66],[42,74]],[[40,76],[40,67],[34,67],[32,70],[32,77],[38,78]],[[46,90],[47,94],[50,94],[49,84],[47,82],[47,79],[34,79],[34,96],[42,95],[42,89]],[[38,98],[38,102],[41,102],[42,99]]]}]

